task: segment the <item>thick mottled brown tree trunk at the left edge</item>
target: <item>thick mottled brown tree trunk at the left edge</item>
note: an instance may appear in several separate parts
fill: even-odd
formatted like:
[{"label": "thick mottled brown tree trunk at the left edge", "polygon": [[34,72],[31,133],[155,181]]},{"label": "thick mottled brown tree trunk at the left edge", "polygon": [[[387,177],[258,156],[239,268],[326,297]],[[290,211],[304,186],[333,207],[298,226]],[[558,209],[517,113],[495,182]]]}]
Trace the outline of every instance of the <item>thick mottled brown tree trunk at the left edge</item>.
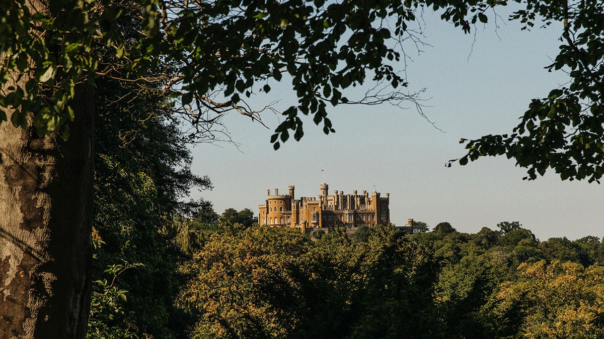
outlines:
[{"label": "thick mottled brown tree trunk at the left edge", "polygon": [[0,124],[0,337],[84,338],[90,308],[94,89],[71,137]]}]

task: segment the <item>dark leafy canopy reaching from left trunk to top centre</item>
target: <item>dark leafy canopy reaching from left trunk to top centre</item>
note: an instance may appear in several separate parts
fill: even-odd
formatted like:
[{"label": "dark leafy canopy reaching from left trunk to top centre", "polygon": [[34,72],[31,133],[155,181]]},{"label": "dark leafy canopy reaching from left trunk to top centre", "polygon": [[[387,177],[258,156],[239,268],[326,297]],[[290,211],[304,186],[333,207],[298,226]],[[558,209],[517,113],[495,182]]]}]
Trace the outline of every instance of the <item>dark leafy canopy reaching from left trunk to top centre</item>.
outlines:
[{"label": "dark leafy canopy reaching from left trunk to top centre", "polygon": [[[111,77],[138,74],[145,81],[149,65],[172,65],[174,72],[164,75],[165,90],[181,98],[173,109],[193,124],[191,138],[214,138],[212,125],[229,110],[260,119],[260,111],[270,107],[254,110],[243,98],[269,92],[269,79],[286,81],[282,75],[288,74],[298,103],[280,112],[284,121],[271,138],[278,148],[290,131],[296,140],[303,136],[300,114],[312,115],[330,133],[329,105],[413,100],[413,94],[398,90],[406,86],[397,66],[404,53],[399,43],[418,39],[408,25],[423,8],[442,11],[443,19],[467,33],[472,24],[487,21],[487,8],[499,4],[141,0],[137,5],[143,21],[137,30],[144,34],[138,43],[129,44],[118,22],[132,2],[53,1],[48,12],[36,12],[24,0],[6,1],[7,11],[0,14],[5,22],[0,32],[5,60],[0,81],[8,84],[14,72],[33,72],[34,77],[25,84],[15,81],[5,86],[0,104],[14,109],[14,125],[25,126],[25,117],[34,112],[39,135],[60,131],[68,135],[76,83],[115,71],[90,54],[95,40],[101,40],[126,63],[121,74]],[[364,98],[344,95],[347,87],[369,80],[384,81],[391,91],[370,91]],[[0,121],[6,118],[0,116]]]}]

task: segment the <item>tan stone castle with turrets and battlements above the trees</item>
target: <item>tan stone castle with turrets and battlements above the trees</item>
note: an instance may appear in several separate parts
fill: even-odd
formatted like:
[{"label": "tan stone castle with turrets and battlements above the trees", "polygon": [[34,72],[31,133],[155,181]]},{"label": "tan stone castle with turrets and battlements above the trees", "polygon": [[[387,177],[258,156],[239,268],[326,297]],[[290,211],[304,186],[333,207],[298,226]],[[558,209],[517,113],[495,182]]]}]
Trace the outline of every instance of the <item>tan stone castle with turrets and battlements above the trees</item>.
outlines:
[{"label": "tan stone castle with turrets and battlements above the trees", "polygon": [[258,224],[280,227],[296,227],[303,232],[312,229],[329,229],[334,226],[345,226],[356,229],[361,225],[388,224],[390,209],[388,204],[390,194],[380,197],[378,192],[370,194],[363,191],[357,194],[344,194],[342,191],[333,191],[327,195],[329,186],[321,184],[321,195],[318,197],[294,196],[294,186],[289,186],[286,195],[279,195],[275,188],[275,195],[267,190],[265,204],[259,205]]}]

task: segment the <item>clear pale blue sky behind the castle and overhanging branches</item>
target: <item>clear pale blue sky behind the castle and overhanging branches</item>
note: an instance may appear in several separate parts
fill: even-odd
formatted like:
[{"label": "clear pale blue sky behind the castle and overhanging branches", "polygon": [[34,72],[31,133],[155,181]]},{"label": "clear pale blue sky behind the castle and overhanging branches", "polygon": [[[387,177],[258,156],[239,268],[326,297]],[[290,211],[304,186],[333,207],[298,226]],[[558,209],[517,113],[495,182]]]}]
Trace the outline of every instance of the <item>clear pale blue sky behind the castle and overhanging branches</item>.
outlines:
[{"label": "clear pale blue sky behind the castle and overhanging branches", "polygon": [[[404,46],[410,59],[400,69],[408,90],[423,90],[423,113],[436,127],[412,104],[338,106],[328,111],[336,133],[324,135],[305,117],[301,141],[291,139],[274,151],[269,140],[279,116],[263,115],[266,128],[232,113],[223,122],[238,147],[191,147],[194,173],[207,175],[214,186],[192,197],[211,201],[219,213],[249,208],[257,214],[266,189],[287,192],[294,185],[297,198],[312,197],[326,182],[330,194],[389,193],[390,218],[398,225],[408,218],[431,227],[447,221],[475,233],[519,221],[541,240],[603,236],[604,196],[597,183],[562,182],[553,171],[522,180],[525,170],[505,157],[445,166],[464,155],[460,138],[511,132],[532,98],[568,81],[564,72],[544,69],[557,55],[561,27],[521,31],[506,13],[498,14],[496,26],[463,34],[426,12],[420,27],[426,45],[420,51]],[[296,103],[286,84],[271,87],[270,97],[254,97],[252,106],[279,100],[275,107],[285,109]]]}]

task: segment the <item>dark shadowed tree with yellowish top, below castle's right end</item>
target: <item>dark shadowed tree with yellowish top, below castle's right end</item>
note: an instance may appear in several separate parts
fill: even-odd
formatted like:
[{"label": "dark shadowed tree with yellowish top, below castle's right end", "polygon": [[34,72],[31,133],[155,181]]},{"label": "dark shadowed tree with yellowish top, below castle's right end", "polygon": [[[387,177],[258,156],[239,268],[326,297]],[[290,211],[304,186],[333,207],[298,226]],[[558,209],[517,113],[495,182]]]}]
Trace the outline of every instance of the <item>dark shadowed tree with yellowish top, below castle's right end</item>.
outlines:
[{"label": "dark shadowed tree with yellowish top, below castle's right end", "polygon": [[392,225],[376,225],[366,244],[358,318],[348,337],[442,337],[434,300],[439,267],[429,250]]}]

